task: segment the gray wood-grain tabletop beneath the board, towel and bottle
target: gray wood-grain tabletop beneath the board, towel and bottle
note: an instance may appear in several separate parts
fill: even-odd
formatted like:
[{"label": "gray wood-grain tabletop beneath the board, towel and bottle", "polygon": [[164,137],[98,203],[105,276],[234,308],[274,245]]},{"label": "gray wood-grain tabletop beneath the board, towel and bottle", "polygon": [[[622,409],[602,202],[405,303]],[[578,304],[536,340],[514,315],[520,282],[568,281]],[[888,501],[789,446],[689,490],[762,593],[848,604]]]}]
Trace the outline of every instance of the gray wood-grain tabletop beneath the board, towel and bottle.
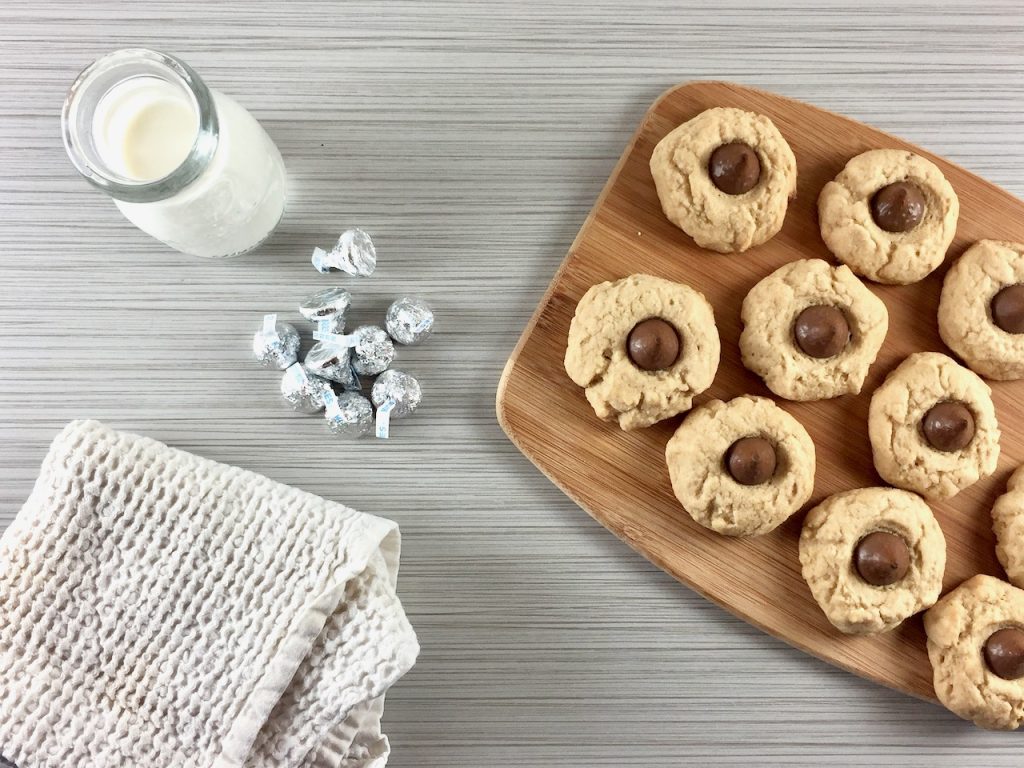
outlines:
[{"label": "gray wood-grain tabletop beneath the board, towel and bottle", "polygon": [[[654,97],[696,78],[811,101],[1024,195],[1024,3],[12,2],[0,6],[0,525],[91,417],[265,473],[403,534],[416,669],[395,766],[1019,766],[1021,736],[835,670],[706,603],[505,439],[502,366]],[[955,7],[953,7],[955,6]],[[255,255],[203,261],[74,173],[65,90],[114,48],[176,52],[245,103],[291,178]],[[376,236],[358,312],[429,296],[425,406],[389,443],[283,410],[249,359],[308,263]],[[561,382],[553,386],[561,386]],[[72,768],[72,767],[69,767]]]}]

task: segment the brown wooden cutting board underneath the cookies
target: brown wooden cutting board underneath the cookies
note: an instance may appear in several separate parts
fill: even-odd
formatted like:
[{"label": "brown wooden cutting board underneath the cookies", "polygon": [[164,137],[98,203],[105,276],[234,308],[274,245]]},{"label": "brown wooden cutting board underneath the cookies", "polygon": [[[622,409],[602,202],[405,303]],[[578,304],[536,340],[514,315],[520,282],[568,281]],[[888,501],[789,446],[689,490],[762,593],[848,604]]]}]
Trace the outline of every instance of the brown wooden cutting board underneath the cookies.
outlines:
[{"label": "brown wooden cutting board underneath the cookies", "polygon": [[[785,225],[774,239],[743,254],[702,250],[673,226],[662,213],[648,169],[663,136],[712,106],[767,115],[797,156],[798,197],[790,204]],[[831,260],[818,232],[818,193],[847,160],[884,147],[929,158],[956,190],[959,225],[946,262],[916,285],[869,284],[889,308],[889,335],[860,395],[821,402],[776,398],[807,428],[817,449],[808,506],[758,539],[712,534],[683,511],[669,483],[665,444],[680,418],[622,432],[594,416],[583,390],[566,376],[562,358],[577,302],[595,283],[634,272],[686,283],[715,307],[722,339],[718,376],[697,402],[743,393],[771,396],[740,364],[740,302],[755,283],[781,264],[808,257]],[[870,393],[908,353],[949,353],[936,328],[942,278],[952,259],[982,238],[1024,241],[1024,203],[906,141],[815,106],[731,83],[679,86],[644,117],[523,332],[499,386],[499,419],[516,446],[569,498],[683,584],[808,653],[934,699],[920,616],[881,636],[843,635],[811,598],[800,574],[797,543],[811,506],[839,490],[883,484],[867,440]],[[1010,472],[1024,461],[1024,381],[993,383],[992,389],[1002,428],[998,470],[952,500],[931,505],[948,549],[944,590],[978,572],[1004,577],[988,511]]]}]

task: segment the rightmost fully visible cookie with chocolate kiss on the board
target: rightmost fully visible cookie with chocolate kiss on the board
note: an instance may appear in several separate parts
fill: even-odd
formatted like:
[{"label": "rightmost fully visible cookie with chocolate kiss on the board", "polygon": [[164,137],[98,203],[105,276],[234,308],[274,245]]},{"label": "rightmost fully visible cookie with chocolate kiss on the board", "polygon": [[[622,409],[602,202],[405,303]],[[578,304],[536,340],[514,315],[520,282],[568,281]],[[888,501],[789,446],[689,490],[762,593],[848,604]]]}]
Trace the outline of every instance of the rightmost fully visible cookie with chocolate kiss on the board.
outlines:
[{"label": "rightmost fully visible cookie with chocolate kiss on the board", "polygon": [[928,499],[948,499],[995,471],[999,426],[991,390],[938,352],[916,352],[871,395],[874,468]]}]

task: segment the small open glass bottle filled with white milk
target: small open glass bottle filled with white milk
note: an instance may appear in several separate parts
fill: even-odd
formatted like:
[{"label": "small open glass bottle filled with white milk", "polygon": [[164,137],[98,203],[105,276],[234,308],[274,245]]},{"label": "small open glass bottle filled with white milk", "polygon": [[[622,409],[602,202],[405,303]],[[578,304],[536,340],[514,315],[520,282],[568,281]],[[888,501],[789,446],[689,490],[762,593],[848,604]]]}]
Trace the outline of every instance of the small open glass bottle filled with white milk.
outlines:
[{"label": "small open glass bottle filled with white milk", "polygon": [[97,59],[60,122],[79,173],[171,248],[245,253],[284,213],[285,164],[266,131],[173,56],[131,48]]}]

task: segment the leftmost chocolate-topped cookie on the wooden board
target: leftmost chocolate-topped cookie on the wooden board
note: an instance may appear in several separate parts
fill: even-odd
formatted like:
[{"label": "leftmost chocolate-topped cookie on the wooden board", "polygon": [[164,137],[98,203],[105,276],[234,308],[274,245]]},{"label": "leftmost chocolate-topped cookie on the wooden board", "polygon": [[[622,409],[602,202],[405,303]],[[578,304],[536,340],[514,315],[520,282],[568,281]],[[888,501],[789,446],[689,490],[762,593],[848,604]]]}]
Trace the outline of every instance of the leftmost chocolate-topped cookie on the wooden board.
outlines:
[{"label": "leftmost chocolate-topped cookie on the wooden board", "polygon": [[569,326],[565,371],[601,419],[637,429],[688,411],[711,386],[720,345],[708,300],[633,274],[592,287]]}]

